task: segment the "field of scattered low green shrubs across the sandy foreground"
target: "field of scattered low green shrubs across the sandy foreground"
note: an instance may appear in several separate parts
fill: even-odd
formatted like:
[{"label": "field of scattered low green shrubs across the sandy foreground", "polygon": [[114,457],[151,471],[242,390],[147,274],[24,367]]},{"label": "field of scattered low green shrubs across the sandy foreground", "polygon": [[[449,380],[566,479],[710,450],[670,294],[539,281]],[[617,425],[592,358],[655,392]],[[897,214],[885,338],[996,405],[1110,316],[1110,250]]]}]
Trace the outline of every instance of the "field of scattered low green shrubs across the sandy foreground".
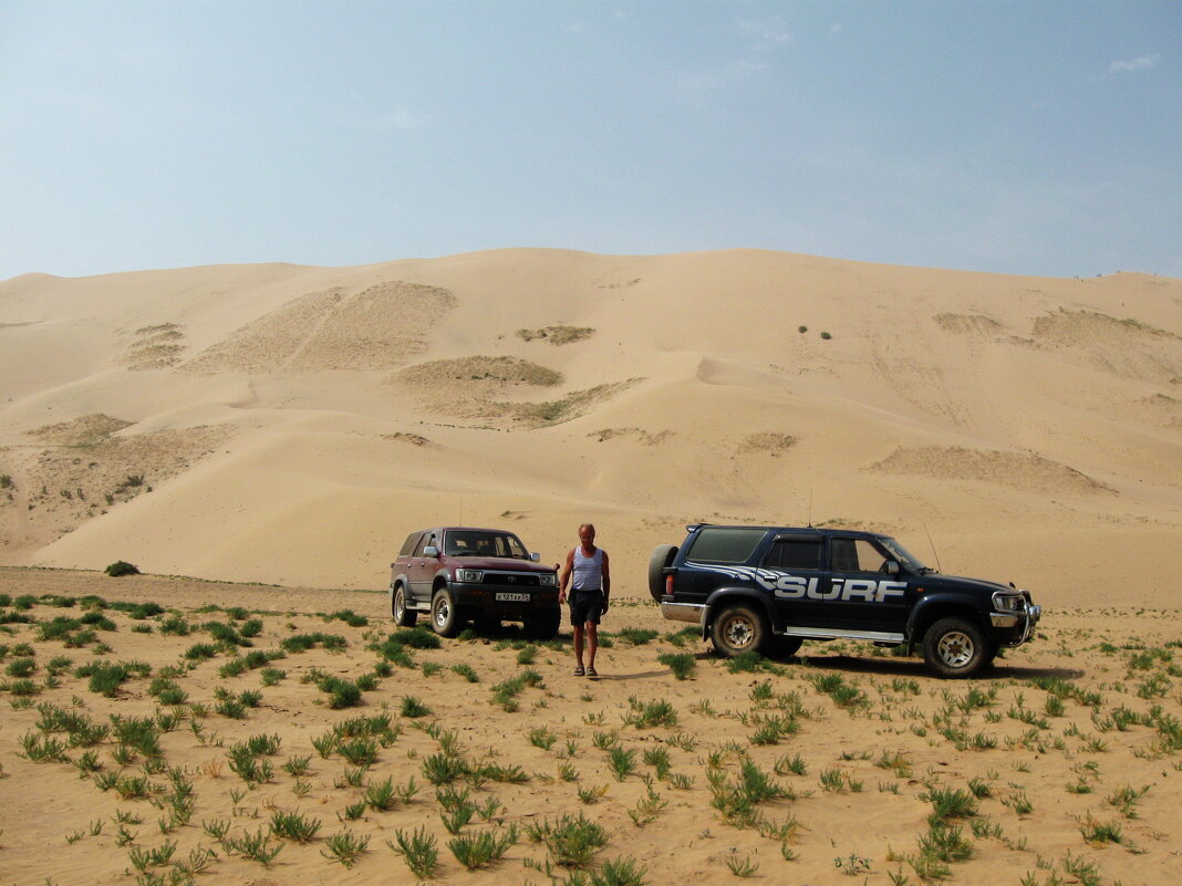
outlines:
[{"label": "field of scattered low green shrubs across the sandy foreground", "polygon": [[[372,617],[362,624],[361,605],[286,617],[253,605],[202,617],[80,594],[0,599],[0,612],[28,618],[0,625],[9,632],[0,636],[0,693],[26,718],[13,753],[46,784],[77,783],[118,804],[117,817],[64,827],[63,848],[93,846],[97,832],[121,853],[117,871],[144,884],[173,871],[177,881],[186,872],[216,875],[230,856],[269,867],[313,859],[323,875],[336,865],[372,872],[376,838],[397,869],[405,865],[403,878],[423,880],[470,869],[498,881],[652,882],[657,872],[630,853],[660,840],[715,841],[710,875],[722,879],[767,878],[774,859],[821,864],[851,882],[935,882],[1004,851],[1032,853],[1037,886],[1053,877],[1103,886],[1104,854],[1047,855],[1044,821],[1080,851],[1109,847],[1134,865],[1148,834],[1171,835],[1150,786],[1180,768],[1170,669],[1182,644],[1136,637],[1102,651],[1092,643],[1091,654],[1113,667],[1099,679],[1047,669],[949,685],[914,671],[818,669],[812,653],[788,665],[749,656],[732,667],[734,659],[699,659],[671,639],[696,643],[700,633],[625,624],[600,656],[609,673],[647,682],[591,684],[566,678],[569,640],[539,644],[509,630],[504,639],[439,644]],[[203,623],[210,612],[222,614]],[[350,640],[318,632],[325,620]],[[156,630],[132,633],[135,625]],[[210,641],[193,644],[194,630]],[[87,643],[66,645],[84,632],[93,634]],[[99,637],[108,651],[93,656]],[[130,654],[132,644],[147,660]],[[660,645],[671,651],[651,649]],[[411,666],[384,657],[395,649],[414,656]],[[818,644],[816,656],[826,654],[847,651]],[[695,682],[678,682],[675,669]],[[1143,698],[1150,680],[1169,688]],[[336,692],[355,704],[335,708]],[[284,725],[296,706],[307,730]],[[865,741],[824,741],[838,731]],[[196,764],[176,755],[194,750]],[[816,822],[832,825],[818,817],[825,803],[873,812],[888,800],[892,814],[922,822],[905,845],[878,854],[849,829],[818,836]],[[217,803],[220,814],[194,817]],[[391,827],[409,812],[422,815],[414,828]],[[204,846],[186,841],[187,826]],[[518,828],[525,842],[514,852]]]}]

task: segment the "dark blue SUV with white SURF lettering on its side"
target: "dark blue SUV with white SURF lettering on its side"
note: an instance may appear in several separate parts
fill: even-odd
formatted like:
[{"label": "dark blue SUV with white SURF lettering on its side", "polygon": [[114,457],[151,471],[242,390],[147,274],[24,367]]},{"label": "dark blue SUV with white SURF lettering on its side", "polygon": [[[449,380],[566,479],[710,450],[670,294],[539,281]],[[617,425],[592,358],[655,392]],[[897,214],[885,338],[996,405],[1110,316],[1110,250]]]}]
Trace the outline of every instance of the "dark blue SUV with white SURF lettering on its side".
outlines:
[{"label": "dark blue SUV with white SURF lettering on its side", "polygon": [[686,527],[661,545],[649,589],[662,614],[700,625],[723,656],[791,656],[804,640],[923,650],[942,677],[969,677],[1030,640],[1041,607],[1026,591],[941,575],[889,535],[759,526]]}]

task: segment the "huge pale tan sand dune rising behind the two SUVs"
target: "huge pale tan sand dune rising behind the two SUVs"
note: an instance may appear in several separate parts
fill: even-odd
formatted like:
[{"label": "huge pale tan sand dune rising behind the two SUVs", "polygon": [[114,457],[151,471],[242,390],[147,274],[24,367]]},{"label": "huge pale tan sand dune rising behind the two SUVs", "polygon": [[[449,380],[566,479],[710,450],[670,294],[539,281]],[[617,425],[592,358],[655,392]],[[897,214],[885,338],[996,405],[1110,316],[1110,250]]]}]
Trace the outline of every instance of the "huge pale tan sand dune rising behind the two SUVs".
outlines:
[{"label": "huge pale tan sand dune rising behind the two SUVs", "polygon": [[[410,528],[511,512],[547,559],[604,523],[639,593],[688,520],[890,526],[970,566],[974,536],[1008,533],[1019,568],[1056,527],[1168,539],[1180,304],[1182,282],[1135,274],[759,250],[26,275],[0,284],[0,558],[382,587]],[[128,425],[30,434],[93,415]],[[91,462],[151,493],[65,507],[93,502]],[[1130,566],[1067,559],[1035,566],[1052,593]]]}]

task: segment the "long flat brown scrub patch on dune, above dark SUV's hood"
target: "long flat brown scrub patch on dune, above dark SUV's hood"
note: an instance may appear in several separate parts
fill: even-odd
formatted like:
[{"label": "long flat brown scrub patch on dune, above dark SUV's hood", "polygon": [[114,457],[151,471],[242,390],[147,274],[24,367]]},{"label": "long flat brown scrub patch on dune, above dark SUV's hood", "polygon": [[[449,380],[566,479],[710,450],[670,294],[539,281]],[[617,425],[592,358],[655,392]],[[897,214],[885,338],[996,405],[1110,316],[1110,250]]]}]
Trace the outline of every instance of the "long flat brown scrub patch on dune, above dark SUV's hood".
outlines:
[{"label": "long flat brown scrub patch on dune, above dark SUV's hood", "polygon": [[962,447],[900,447],[870,470],[940,480],[972,480],[1043,493],[1113,491],[1066,464],[1033,452],[999,452]]}]

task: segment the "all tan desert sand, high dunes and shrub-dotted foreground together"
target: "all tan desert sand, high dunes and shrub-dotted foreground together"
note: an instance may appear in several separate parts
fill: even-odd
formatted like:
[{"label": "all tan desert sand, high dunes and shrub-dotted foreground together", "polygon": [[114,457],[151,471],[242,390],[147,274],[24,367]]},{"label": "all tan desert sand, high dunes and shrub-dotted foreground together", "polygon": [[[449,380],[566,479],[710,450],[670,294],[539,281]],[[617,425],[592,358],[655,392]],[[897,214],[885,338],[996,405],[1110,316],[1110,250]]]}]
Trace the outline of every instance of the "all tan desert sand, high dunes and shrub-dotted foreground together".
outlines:
[{"label": "all tan desert sand, high dunes and shrub-dotted foreground together", "polygon": [[[920,882],[942,875],[924,840],[953,828],[955,882],[1176,882],[1180,307],[1182,281],[1139,274],[756,250],[0,282],[0,882],[201,866],[208,882],[410,882],[388,841],[415,828],[442,882],[610,882],[621,859],[649,882]],[[570,676],[563,643],[531,651],[512,631],[382,657],[410,530],[501,526],[557,561],[584,520],[616,581],[599,680]],[[652,546],[697,521],[886,530],[944,572],[1031,589],[1040,636],[966,683],[855,644],[732,672],[645,588]],[[97,572],[121,559],[152,575]],[[87,611],[113,630],[70,646],[45,627]],[[365,623],[325,618],[343,611]],[[252,618],[251,646],[206,626]],[[317,632],[344,646],[285,651]],[[201,644],[212,657],[187,657]],[[251,651],[284,651],[284,676],[233,673]],[[667,654],[691,657],[689,679]],[[96,663],[136,666],[108,697],[78,673]],[[358,705],[330,706],[325,675],[375,667]],[[162,703],[157,679],[186,699]],[[158,755],[109,734],[37,760],[70,744],[54,711],[113,727],[157,710],[178,715]],[[387,715],[368,769],[312,744]],[[248,783],[230,755],[264,735],[281,747]],[[612,748],[635,771],[617,777]],[[668,773],[644,761],[662,749]],[[453,787],[488,814],[461,836],[517,832],[487,868],[448,848],[437,755],[468,767]],[[745,766],[777,787],[746,815],[727,800]],[[148,796],[99,787],[136,777]],[[414,795],[363,803],[410,777]],[[975,814],[930,823],[955,791]],[[267,836],[277,813],[322,826]],[[606,842],[563,866],[533,838],[580,815]],[[343,833],[368,840],[350,868],[330,858]],[[269,865],[243,853],[251,834],[282,846]]]}]

